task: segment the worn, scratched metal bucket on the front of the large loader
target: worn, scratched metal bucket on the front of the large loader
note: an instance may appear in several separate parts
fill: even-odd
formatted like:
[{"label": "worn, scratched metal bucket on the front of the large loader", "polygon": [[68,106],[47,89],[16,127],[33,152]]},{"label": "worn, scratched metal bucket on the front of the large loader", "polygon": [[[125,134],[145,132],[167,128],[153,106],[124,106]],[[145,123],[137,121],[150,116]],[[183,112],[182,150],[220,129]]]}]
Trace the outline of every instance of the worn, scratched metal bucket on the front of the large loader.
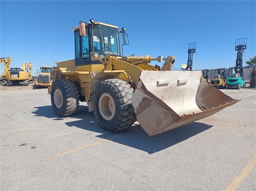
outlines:
[{"label": "worn, scratched metal bucket on the front of the large loader", "polygon": [[210,86],[201,71],[142,71],[132,97],[137,120],[149,136],[206,118],[238,101]]}]

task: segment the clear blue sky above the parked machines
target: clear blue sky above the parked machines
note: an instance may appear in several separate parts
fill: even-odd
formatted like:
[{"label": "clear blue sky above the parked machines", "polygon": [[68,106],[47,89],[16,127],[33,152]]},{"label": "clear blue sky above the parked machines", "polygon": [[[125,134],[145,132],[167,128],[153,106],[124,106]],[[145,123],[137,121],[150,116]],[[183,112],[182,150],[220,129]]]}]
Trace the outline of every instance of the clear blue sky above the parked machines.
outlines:
[{"label": "clear blue sky above the parked machines", "polygon": [[175,56],[175,68],[187,64],[193,42],[193,70],[235,66],[239,38],[247,37],[243,65],[256,56],[255,0],[0,0],[0,57],[10,56],[11,67],[31,62],[33,75],[42,65],[74,59],[70,28],[90,18],[126,28],[124,55]]}]

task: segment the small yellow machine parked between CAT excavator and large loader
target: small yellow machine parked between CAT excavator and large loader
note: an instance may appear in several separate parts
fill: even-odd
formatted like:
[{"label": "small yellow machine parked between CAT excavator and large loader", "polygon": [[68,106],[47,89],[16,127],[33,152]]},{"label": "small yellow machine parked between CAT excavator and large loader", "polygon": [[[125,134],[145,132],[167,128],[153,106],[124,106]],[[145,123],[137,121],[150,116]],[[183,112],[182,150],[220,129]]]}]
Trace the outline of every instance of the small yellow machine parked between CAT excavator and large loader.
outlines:
[{"label": "small yellow machine parked between CAT excavator and large loader", "polygon": [[42,66],[40,67],[40,74],[35,81],[35,86],[48,87],[52,85],[52,80],[50,79],[50,72],[53,66]]}]

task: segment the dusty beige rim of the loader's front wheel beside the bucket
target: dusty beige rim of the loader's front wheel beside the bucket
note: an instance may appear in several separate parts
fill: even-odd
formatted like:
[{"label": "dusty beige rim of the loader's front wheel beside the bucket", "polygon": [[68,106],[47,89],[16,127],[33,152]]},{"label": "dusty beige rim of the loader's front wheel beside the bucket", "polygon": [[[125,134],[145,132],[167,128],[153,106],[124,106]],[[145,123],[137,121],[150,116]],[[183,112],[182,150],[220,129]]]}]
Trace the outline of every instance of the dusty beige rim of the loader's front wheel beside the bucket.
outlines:
[{"label": "dusty beige rim of the loader's front wheel beside the bucket", "polygon": [[99,99],[100,115],[105,120],[111,120],[115,115],[115,102],[108,93],[103,93]]}]

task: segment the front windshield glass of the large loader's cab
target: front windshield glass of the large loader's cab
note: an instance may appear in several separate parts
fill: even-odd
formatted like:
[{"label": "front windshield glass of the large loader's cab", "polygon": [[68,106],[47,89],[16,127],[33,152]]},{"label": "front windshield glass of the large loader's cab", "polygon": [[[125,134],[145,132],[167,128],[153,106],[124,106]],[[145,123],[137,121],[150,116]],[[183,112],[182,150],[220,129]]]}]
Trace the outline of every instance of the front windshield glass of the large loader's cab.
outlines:
[{"label": "front windshield glass of the large loader's cab", "polygon": [[93,51],[100,52],[100,58],[106,54],[120,56],[118,29],[104,25],[93,26]]}]

